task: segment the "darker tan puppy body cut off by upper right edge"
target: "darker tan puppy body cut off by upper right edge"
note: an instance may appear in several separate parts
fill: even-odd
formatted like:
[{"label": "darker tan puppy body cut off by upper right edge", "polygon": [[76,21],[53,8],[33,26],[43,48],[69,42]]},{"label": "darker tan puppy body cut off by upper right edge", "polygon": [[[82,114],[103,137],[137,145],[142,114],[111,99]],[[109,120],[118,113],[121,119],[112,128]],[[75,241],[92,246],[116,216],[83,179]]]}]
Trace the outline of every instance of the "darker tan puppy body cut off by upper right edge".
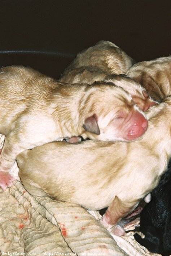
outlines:
[{"label": "darker tan puppy body cut off by upper right edge", "polygon": [[156,101],[171,95],[171,56],[136,63],[127,75],[144,86]]}]

